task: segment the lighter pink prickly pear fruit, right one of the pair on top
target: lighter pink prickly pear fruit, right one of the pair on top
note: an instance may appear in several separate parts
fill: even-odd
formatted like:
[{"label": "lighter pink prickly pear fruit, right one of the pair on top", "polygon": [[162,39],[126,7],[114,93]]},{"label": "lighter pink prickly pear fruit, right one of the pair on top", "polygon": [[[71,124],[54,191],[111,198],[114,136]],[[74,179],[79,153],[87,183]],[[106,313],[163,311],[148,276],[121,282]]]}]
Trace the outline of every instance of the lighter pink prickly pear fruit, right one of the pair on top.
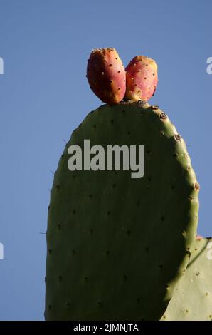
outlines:
[{"label": "lighter pink prickly pear fruit, right one of the pair on top", "polygon": [[148,101],[157,87],[157,63],[146,56],[136,56],[126,68],[126,94],[129,100]]}]

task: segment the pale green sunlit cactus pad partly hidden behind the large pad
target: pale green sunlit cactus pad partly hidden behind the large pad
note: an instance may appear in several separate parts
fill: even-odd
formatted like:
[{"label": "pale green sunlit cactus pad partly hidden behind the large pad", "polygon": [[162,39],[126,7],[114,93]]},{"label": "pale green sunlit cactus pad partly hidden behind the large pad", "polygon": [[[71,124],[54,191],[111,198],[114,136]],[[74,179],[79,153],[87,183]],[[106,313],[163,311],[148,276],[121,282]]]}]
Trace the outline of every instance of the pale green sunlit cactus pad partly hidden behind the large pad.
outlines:
[{"label": "pale green sunlit cactus pad partly hidden behind the large pad", "polygon": [[196,240],[186,272],[161,320],[212,321],[212,238]]}]

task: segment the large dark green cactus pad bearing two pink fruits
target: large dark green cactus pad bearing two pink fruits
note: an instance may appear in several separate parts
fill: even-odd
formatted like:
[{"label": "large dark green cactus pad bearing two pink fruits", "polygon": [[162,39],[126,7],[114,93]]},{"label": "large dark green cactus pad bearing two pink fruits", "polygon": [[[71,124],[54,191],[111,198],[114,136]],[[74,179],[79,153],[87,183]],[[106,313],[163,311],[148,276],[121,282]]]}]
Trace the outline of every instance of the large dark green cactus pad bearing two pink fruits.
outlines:
[{"label": "large dark green cactus pad bearing two pink fruits", "polygon": [[[144,177],[68,170],[68,148],[144,145]],[[184,140],[147,103],[103,105],[74,130],[48,212],[46,320],[160,319],[189,262],[198,183]]]}]

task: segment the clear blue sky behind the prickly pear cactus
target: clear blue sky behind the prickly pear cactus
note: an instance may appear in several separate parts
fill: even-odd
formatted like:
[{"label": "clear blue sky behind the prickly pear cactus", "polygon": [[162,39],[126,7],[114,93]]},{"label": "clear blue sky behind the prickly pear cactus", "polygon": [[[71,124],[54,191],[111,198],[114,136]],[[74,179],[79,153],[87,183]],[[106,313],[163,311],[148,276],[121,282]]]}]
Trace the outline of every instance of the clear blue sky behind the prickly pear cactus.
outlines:
[{"label": "clear blue sky behind the prickly pear cactus", "polygon": [[124,64],[156,59],[157,104],[189,145],[200,192],[198,232],[211,227],[210,0],[0,0],[0,319],[43,319],[47,207],[73,129],[100,100],[85,68],[95,47]]}]

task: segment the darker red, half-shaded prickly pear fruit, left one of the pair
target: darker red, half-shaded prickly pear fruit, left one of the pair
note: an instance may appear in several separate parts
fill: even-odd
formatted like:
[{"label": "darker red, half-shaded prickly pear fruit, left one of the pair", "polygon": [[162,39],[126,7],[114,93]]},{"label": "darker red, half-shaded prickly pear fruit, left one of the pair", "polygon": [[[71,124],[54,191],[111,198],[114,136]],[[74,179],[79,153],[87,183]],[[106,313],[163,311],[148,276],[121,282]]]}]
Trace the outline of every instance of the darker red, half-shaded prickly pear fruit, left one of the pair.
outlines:
[{"label": "darker red, half-shaded prickly pear fruit, left one of the pair", "polygon": [[87,66],[90,88],[104,103],[119,103],[126,91],[126,73],[115,48],[95,49]]}]

